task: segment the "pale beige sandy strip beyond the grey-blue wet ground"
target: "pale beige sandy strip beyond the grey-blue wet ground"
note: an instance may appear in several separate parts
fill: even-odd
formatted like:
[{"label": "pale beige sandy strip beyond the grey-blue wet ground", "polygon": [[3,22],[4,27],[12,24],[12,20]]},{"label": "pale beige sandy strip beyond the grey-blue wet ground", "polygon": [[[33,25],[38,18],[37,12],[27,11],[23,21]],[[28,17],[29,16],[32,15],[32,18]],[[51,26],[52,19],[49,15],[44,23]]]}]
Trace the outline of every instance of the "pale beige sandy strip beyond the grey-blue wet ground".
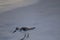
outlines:
[{"label": "pale beige sandy strip beyond the grey-blue wet ground", "polygon": [[37,3],[38,0],[0,0],[0,13]]}]

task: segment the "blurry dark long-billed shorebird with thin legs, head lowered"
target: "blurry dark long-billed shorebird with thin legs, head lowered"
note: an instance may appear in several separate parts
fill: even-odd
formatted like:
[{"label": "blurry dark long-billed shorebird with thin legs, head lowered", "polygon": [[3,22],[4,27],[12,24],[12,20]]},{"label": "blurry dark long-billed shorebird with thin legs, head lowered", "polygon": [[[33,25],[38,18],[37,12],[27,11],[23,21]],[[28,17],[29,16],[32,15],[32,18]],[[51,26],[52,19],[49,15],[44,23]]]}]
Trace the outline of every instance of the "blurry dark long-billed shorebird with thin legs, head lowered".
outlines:
[{"label": "blurry dark long-billed shorebird with thin legs, head lowered", "polygon": [[[35,27],[32,27],[32,28],[28,28],[28,27],[19,28],[19,27],[16,27],[16,29],[13,31],[13,33],[15,33],[16,31],[24,31],[24,32],[26,32],[26,31],[33,30],[33,29],[35,29]],[[20,40],[24,40],[25,38],[29,38],[29,33],[25,33],[24,37],[21,38]]]}]

